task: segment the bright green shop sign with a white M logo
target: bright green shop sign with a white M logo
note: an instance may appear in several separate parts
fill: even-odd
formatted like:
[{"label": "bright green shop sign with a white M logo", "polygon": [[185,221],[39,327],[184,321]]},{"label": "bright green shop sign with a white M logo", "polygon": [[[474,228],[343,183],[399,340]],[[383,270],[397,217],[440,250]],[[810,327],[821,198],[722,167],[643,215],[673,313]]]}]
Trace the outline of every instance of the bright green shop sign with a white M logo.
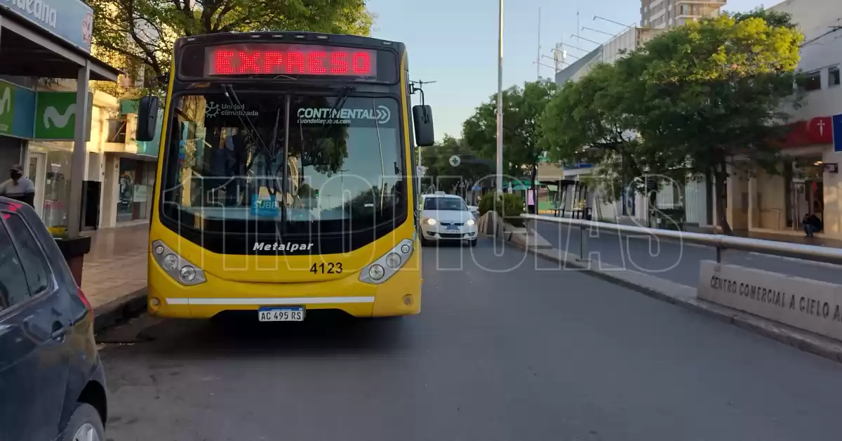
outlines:
[{"label": "bright green shop sign with a white M logo", "polygon": [[[88,138],[93,94],[88,94]],[[76,133],[76,92],[39,92],[35,105],[35,139],[72,141]]]}]

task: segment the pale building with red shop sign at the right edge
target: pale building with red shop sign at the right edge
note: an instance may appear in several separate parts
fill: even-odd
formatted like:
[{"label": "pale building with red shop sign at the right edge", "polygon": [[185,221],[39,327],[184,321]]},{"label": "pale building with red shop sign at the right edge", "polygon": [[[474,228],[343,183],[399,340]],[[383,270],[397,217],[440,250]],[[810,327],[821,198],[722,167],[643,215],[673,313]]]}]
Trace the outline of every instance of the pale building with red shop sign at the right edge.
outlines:
[{"label": "pale building with red shop sign at the right edge", "polygon": [[824,236],[842,239],[842,9],[823,0],[786,0],[771,9],[790,13],[805,35],[798,65],[807,78],[804,101],[786,109],[792,130],[779,173],[729,179],[728,218],[738,229],[803,234],[802,218],[815,214]]}]

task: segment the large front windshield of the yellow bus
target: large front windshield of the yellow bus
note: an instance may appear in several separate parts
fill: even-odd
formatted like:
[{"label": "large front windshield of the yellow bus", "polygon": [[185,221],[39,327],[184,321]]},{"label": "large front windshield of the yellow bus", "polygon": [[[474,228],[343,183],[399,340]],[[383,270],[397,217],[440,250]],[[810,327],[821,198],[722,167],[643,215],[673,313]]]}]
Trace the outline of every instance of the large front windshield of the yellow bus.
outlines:
[{"label": "large front windshield of the yellow bus", "polygon": [[405,211],[395,99],[231,90],[173,101],[162,204],[171,222],[331,234]]}]

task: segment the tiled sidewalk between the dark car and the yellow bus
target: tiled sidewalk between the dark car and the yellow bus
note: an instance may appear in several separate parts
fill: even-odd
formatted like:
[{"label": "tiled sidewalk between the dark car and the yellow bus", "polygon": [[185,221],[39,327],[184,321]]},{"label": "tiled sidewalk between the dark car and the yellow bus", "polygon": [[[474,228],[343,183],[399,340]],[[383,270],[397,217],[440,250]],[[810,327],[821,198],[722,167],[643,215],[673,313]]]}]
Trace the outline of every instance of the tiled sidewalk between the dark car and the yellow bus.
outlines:
[{"label": "tiled sidewalk between the dark car and the yellow bus", "polygon": [[94,308],[146,288],[149,224],[100,229],[90,235],[82,290]]}]

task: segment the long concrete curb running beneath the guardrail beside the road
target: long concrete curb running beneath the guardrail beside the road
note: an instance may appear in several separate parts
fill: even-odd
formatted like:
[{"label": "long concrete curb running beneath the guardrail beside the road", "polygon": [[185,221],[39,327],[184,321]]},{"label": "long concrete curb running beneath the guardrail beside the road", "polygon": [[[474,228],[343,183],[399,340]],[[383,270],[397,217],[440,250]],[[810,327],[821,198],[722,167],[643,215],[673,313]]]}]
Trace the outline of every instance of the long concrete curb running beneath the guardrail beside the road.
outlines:
[{"label": "long concrete curb running beneath the guardrail beside the road", "polygon": [[[593,277],[597,277],[605,282],[614,283],[624,288],[632,289],[638,293],[642,293],[651,298],[656,298],[669,304],[674,304],[685,309],[689,309],[701,315],[706,315],[712,319],[716,319],[727,323],[729,325],[737,326],[746,331],[754,332],[760,336],[765,336],[776,342],[781,342],[787,346],[795,347],[804,352],[810,352],[822,358],[828,358],[837,363],[842,363],[842,342],[829,339],[825,336],[819,336],[809,331],[803,331],[790,325],[784,325],[773,320],[767,320],[757,315],[744,313],[737,309],[727,308],[719,304],[714,304],[706,300],[701,300],[695,297],[695,288],[681,285],[676,282],[644,275],[631,270],[623,271],[605,271],[603,269],[590,268],[588,262],[578,261],[578,259],[569,258],[572,255],[564,253],[563,255],[549,255],[543,250],[533,250],[524,245],[509,242],[508,244],[526,252],[541,257],[547,261],[561,263],[565,267],[576,268],[581,272],[586,272]],[[556,252],[561,252],[557,249],[552,249]],[[575,256],[578,257],[578,256]],[[619,270],[619,268],[617,268]],[[644,278],[646,278],[644,283]],[[637,279],[637,280],[634,280]]]}]

